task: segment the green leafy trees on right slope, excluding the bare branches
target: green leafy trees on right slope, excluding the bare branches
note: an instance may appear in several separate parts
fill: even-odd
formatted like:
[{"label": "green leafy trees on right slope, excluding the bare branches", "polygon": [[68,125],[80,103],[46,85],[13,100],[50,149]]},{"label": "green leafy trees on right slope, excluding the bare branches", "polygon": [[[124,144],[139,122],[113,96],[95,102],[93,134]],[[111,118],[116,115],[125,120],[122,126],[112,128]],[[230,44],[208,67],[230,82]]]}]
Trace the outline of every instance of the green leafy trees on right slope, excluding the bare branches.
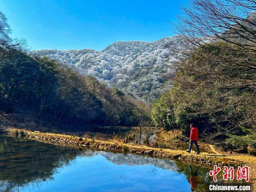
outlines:
[{"label": "green leafy trees on right slope, excluding the bare branches", "polygon": [[[184,129],[189,128],[190,123],[195,123],[202,132],[207,133],[208,138],[240,130],[241,123],[255,110],[255,100],[248,103],[239,99],[253,94],[253,89],[246,89],[246,86],[214,89],[214,86],[251,76],[255,71],[237,73],[235,68],[230,71],[232,66],[216,63],[215,59],[209,62],[209,57],[224,56],[221,51],[223,46],[225,44],[212,44],[204,49],[197,48],[197,56],[183,63],[184,70],[176,74],[172,89],[153,104],[151,116],[155,124],[166,129]],[[243,54],[229,51],[225,57],[243,57]],[[225,78],[214,76],[215,71],[225,74]],[[212,88],[209,89],[209,86]],[[252,128],[249,121],[242,125]]]}]

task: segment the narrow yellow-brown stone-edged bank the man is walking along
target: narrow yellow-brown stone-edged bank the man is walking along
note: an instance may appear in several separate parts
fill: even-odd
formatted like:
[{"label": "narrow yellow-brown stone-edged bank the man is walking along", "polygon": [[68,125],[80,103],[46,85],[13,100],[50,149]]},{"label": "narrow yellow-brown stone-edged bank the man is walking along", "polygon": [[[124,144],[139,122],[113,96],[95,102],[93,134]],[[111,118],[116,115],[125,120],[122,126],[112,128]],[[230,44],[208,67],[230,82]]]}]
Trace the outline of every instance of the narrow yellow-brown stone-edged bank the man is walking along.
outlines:
[{"label": "narrow yellow-brown stone-edged bank the man is walking along", "polygon": [[101,140],[94,140],[82,137],[75,137],[69,135],[61,135],[54,133],[41,133],[38,131],[26,131],[25,129],[5,128],[1,127],[0,132],[7,135],[23,135],[26,138],[34,139],[40,142],[47,142],[67,147],[74,148],[91,148],[103,151],[113,151],[117,153],[131,153],[148,155],[156,158],[177,159],[180,161],[201,163],[202,165],[218,165],[218,166],[249,166],[250,179],[255,186],[256,175],[256,157],[249,155],[235,155],[235,154],[194,154],[187,153],[182,150],[160,149],[147,146],[132,146],[129,144],[121,144],[114,142],[107,142]]}]

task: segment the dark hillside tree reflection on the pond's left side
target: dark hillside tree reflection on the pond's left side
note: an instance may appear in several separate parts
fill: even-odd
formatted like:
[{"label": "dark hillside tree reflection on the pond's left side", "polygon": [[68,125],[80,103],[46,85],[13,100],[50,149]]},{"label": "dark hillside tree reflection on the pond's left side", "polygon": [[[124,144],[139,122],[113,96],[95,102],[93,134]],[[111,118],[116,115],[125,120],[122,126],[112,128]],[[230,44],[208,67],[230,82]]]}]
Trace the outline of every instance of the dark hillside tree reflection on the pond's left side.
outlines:
[{"label": "dark hillside tree reflection on the pond's left side", "polygon": [[78,153],[72,148],[0,136],[0,191],[50,179],[58,167],[68,165]]}]

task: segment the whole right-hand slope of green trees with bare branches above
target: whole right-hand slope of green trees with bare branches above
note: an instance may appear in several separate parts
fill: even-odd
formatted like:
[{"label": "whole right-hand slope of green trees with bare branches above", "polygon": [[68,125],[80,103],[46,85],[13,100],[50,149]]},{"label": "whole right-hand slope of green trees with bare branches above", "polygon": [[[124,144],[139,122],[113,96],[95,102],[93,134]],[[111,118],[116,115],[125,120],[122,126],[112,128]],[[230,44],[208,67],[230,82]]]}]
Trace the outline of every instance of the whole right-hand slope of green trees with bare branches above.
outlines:
[{"label": "whole right-hand slope of green trees with bare branches above", "polygon": [[174,28],[196,47],[169,46],[189,59],[172,65],[173,86],[153,104],[155,124],[188,131],[195,123],[201,138],[225,135],[230,147],[256,148],[255,11],[246,0],[192,0],[183,7]]}]

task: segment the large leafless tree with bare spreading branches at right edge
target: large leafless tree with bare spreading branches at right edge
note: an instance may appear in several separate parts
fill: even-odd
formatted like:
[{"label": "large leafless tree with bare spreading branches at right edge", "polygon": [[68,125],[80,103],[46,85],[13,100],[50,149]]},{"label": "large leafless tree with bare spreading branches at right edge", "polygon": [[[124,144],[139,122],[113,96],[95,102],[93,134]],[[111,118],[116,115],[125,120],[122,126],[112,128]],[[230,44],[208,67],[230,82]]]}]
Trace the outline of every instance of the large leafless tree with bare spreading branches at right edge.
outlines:
[{"label": "large leafless tree with bare spreading branches at right edge", "polygon": [[255,11],[255,0],[190,0],[172,23],[183,41],[166,45],[180,58],[169,77],[194,114],[219,116],[212,136],[256,123]]}]

